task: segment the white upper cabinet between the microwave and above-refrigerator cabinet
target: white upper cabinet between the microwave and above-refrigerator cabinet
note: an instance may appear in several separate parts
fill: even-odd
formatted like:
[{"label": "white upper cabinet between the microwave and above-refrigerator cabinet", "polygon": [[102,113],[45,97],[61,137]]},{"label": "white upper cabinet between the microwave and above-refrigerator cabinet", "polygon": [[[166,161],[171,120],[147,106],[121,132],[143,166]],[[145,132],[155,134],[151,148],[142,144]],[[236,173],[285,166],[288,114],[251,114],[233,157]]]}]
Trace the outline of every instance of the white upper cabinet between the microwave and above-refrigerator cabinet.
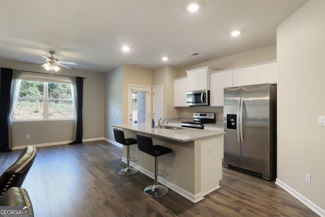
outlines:
[{"label": "white upper cabinet between the microwave and above-refrigerator cabinet", "polygon": [[233,86],[233,70],[210,74],[210,106],[223,106],[223,88]]}]

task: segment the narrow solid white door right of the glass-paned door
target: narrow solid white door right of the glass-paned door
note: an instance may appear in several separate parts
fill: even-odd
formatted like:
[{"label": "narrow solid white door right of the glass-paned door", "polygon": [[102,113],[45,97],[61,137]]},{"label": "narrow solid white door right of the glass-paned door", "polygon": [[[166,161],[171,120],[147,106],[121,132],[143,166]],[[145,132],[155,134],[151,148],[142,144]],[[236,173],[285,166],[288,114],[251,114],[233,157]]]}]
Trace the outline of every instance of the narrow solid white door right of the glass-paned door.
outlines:
[{"label": "narrow solid white door right of the glass-paned door", "polygon": [[157,85],[152,88],[152,110],[153,119],[156,125],[158,124],[159,118],[164,119],[164,86]]}]

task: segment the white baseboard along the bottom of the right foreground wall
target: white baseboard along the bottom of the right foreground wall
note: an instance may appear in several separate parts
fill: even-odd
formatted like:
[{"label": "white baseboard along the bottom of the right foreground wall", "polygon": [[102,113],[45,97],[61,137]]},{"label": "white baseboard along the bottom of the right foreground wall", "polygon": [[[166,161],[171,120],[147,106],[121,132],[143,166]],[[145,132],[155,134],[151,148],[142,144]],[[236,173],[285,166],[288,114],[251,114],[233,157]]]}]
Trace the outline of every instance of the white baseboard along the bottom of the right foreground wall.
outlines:
[{"label": "white baseboard along the bottom of the right foreground wall", "polygon": [[322,217],[325,216],[325,210],[323,210],[322,208],[320,208],[319,206],[317,206],[316,204],[314,204],[312,201],[310,201],[308,198],[306,198],[303,195],[301,195],[299,192],[297,192],[293,188],[289,187],[289,185],[287,185],[286,183],[282,182],[278,178],[275,180],[275,183],[277,185],[279,185],[282,189],[284,189],[285,191],[287,191],[290,195],[292,195],[295,198],[297,198],[300,202],[302,202],[303,204],[305,204],[308,208],[310,208],[311,210],[313,210],[319,216],[322,216]]}]

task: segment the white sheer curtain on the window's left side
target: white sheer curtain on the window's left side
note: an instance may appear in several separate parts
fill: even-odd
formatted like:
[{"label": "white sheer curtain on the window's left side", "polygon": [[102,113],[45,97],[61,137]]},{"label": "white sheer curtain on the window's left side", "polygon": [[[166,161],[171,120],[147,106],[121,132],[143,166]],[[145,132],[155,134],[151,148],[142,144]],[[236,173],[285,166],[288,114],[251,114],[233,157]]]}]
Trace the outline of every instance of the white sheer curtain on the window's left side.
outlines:
[{"label": "white sheer curtain on the window's left side", "polygon": [[17,95],[19,93],[21,83],[21,74],[19,70],[13,70],[11,87],[10,87],[10,102],[9,102],[9,113],[8,113],[8,134],[9,134],[9,149],[11,149],[11,126],[12,126],[12,116],[14,113],[15,102]]}]

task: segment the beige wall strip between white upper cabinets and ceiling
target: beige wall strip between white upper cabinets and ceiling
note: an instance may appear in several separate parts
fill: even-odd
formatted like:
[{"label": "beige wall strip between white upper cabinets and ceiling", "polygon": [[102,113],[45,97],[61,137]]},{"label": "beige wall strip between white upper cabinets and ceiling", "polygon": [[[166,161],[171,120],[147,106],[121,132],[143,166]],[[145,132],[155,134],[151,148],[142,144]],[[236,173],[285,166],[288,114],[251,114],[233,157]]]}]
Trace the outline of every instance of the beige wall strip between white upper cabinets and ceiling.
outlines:
[{"label": "beige wall strip between white upper cabinets and ceiling", "polygon": [[248,50],[230,56],[206,61],[201,64],[192,65],[180,69],[180,77],[186,77],[186,70],[197,69],[204,66],[210,66],[217,69],[232,69],[251,64],[262,63],[276,59],[276,44]]}]

